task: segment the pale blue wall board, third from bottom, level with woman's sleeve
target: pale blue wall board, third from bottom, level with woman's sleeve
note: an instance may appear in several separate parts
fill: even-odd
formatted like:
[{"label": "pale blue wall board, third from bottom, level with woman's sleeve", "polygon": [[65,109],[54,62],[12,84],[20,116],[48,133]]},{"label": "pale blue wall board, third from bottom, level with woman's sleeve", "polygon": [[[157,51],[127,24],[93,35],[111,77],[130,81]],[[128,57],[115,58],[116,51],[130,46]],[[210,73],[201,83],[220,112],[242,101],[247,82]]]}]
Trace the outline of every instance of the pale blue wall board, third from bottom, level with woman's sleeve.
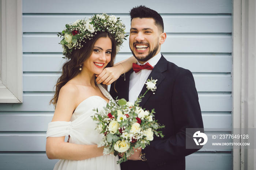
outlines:
[{"label": "pale blue wall board, third from bottom, level with woman's sleeve", "polygon": [[[53,111],[49,111],[49,112],[22,111],[19,113],[14,111],[0,112],[0,129],[2,132],[17,132],[17,133],[18,132],[26,132],[26,133],[46,132],[47,125],[52,120],[52,116],[53,116]],[[205,128],[217,128],[217,127],[231,128],[230,112],[203,112],[202,116],[203,116]],[[8,136],[8,133],[7,135],[4,135],[4,136]],[[0,145],[0,148],[1,147],[2,145]],[[15,146],[12,146],[12,147],[15,147]]]}]

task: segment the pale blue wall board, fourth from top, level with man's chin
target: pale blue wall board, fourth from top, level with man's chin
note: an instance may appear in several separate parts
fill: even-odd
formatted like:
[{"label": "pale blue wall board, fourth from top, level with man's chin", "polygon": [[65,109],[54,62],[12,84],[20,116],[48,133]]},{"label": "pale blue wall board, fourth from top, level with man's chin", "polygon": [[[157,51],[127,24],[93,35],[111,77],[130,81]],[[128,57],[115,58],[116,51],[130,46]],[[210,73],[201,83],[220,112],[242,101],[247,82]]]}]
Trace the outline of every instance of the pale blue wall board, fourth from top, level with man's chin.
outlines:
[{"label": "pale blue wall board, fourth from top, level with man's chin", "polygon": [[[119,53],[116,62],[130,57],[131,53]],[[176,65],[196,73],[230,73],[230,53],[163,53],[165,58]],[[23,54],[24,72],[59,72],[66,61],[62,53]],[[50,62],[49,62],[50,61]],[[38,65],[38,63],[40,63]],[[193,63],[193,64],[191,64]],[[45,67],[47,65],[47,67]]]}]

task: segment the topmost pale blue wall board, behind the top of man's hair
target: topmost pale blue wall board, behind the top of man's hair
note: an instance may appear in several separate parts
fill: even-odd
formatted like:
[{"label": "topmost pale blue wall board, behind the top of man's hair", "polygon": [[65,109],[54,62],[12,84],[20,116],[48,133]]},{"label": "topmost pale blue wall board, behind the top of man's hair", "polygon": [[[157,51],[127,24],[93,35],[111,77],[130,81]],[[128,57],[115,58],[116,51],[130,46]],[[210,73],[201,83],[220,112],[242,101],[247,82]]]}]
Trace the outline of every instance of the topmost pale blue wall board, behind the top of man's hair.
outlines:
[{"label": "topmost pale blue wall board, behind the top of man's hair", "polygon": [[[74,3],[73,3],[74,2]],[[146,5],[159,13],[231,13],[232,0],[23,0],[23,13],[127,13],[137,5]]]}]

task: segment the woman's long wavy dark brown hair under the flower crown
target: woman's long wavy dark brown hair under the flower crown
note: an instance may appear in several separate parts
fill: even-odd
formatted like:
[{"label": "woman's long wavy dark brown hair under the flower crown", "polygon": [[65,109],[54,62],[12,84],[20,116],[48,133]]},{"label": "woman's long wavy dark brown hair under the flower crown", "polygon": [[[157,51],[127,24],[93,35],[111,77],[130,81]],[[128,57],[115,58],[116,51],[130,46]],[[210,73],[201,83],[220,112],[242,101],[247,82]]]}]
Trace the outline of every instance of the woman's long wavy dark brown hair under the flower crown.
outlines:
[{"label": "woman's long wavy dark brown hair under the flower crown", "polygon": [[[106,67],[112,67],[114,65],[114,59],[116,58],[116,40],[111,34],[107,34],[106,32],[98,32],[91,40],[83,43],[83,47],[81,49],[74,50],[72,52],[72,58],[63,64],[61,76],[59,77],[59,79],[57,80],[57,84],[55,85],[55,94],[50,101],[50,104],[53,104],[54,108],[56,107],[59,98],[60,89],[69,80],[78,75],[80,71],[80,65],[83,64],[91,56],[91,54],[93,53],[93,47],[95,45],[95,42],[101,37],[108,37],[112,42],[111,59]],[[104,86],[104,88],[107,88],[107,86]]]}]

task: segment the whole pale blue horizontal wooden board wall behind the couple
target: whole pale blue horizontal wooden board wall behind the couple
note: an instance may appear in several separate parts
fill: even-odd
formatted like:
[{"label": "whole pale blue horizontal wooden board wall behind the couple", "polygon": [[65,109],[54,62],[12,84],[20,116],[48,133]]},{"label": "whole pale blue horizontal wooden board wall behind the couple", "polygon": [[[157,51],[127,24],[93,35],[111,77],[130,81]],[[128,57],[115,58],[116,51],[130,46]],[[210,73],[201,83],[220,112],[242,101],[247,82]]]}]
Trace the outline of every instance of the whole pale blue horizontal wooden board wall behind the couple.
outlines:
[{"label": "whole pale blue horizontal wooden board wall behind the couple", "polygon": [[[231,128],[231,0],[23,0],[22,104],[0,104],[0,169],[53,169],[45,134],[49,105],[64,62],[57,32],[95,13],[120,17],[129,32],[128,11],[146,5],[161,13],[167,60],[191,70],[205,128]],[[128,41],[117,62],[131,56]],[[206,132],[210,135],[211,132]],[[186,169],[232,169],[231,150],[202,149],[186,157]]]}]

